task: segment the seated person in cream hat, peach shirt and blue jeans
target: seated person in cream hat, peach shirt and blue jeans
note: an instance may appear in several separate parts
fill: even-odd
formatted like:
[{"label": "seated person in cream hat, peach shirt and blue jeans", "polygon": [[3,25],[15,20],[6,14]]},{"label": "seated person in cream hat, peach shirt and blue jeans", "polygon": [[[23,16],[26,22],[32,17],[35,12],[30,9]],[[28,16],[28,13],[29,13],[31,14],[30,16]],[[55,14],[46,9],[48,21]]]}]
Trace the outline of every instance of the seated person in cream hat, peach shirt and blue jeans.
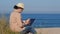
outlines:
[{"label": "seated person in cream hat, peach shirt and blue jeans", "polygon": [[14,10],[10,15],[10,29],[13,32],[21,32],[21,34],[26,34],[26,32],[35,34],[35,31],[31,26],[26,26],[30,23],[30,19],[27,19],[25,22],[22,21],[21,13],[23,10],[23,3],[18,3],[14,6]]}]

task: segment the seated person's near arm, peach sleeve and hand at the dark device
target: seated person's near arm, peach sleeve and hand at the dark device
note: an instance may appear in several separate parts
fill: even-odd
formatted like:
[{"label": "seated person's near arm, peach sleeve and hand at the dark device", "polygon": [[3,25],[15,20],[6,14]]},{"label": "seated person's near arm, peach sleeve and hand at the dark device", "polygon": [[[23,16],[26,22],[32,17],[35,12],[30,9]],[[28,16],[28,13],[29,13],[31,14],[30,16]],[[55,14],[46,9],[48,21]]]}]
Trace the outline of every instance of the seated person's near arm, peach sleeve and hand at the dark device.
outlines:
[{"label": "seated person's near arm, peach sleeve and hand at the dark device", "polygon": [[16,17],[17,17],[17,25],[21,28],[30,23],[30,19],[27,19],[25,22],[23,22],[20,14],[18,14]]}]

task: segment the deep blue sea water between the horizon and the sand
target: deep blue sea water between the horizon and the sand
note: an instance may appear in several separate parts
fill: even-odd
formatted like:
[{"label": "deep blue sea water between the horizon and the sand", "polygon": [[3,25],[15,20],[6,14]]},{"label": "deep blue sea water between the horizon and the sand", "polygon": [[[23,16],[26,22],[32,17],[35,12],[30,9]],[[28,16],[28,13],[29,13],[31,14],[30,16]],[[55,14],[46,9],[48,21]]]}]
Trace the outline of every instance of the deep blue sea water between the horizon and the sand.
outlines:
[{"label": "deep blue sea water between the horizon and the sand", "polygon": [[[5,16],[9,19],[10,14],[5,14]],[[35,19],[33,27],[60,27],[60,14],[22,14],[23,20],[28,18]]]}]

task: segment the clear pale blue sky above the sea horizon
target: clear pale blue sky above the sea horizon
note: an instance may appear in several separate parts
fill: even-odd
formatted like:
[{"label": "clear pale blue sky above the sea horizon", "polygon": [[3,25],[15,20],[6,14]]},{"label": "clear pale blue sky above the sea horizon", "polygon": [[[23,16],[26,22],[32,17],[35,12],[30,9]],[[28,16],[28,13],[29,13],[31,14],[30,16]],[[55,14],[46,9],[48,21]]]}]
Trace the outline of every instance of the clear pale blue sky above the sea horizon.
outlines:
[{"label": "clear pale blue sky above the sea horizon", "polygon": [[60,0],[0,0],[0,13],[12,12],[17,3],[24,3],[26,14],[60,14]]}]

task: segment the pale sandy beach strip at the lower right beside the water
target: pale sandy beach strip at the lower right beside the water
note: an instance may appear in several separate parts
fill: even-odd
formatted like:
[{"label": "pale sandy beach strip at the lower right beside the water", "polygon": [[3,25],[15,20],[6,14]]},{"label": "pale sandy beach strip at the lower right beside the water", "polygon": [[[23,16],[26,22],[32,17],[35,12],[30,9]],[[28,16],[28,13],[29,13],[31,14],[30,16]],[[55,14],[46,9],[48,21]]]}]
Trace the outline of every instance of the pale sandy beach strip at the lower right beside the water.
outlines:
[{"label": "pale sandy beach strip at the lower right beside the water", "polygon": [[60,34],[60,28],[35,28],[37,34]]}]

